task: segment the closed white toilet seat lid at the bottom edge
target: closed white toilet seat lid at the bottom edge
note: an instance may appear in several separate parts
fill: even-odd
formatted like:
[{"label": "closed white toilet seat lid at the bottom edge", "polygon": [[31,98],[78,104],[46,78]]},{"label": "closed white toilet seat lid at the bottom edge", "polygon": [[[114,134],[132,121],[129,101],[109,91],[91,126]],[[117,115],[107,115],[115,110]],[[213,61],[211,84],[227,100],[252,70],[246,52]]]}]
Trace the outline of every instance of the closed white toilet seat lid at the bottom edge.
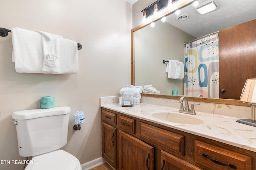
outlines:
[{"label": "closed white toilet seat lid at the bottom edge", "polygon": [[32,157],[26,170],[82,170],[79,160],[64,150]]}]

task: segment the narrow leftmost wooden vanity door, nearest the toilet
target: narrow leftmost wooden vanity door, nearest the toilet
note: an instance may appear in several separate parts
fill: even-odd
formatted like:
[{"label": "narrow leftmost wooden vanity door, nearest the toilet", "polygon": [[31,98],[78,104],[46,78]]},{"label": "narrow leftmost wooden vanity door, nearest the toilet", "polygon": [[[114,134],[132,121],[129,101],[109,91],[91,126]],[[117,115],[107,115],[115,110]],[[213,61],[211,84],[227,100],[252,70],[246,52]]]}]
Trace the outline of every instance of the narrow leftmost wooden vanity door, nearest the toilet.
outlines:
[{"label": "narrow leftmost wooden vanity door, nearest the toilet", "polygon": [[102,157],[114,168],[117,167],[116,140],[117,140],[116,128],[103,122],[102,123]]}]

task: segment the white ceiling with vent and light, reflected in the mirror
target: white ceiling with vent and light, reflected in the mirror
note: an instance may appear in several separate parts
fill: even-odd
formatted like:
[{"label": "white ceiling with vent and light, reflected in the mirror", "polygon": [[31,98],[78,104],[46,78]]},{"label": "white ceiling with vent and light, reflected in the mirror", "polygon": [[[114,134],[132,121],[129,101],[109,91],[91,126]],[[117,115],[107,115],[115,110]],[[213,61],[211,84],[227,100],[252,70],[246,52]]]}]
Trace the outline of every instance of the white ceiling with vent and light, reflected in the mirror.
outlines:
[{"label": "white ceiling with vent and light, reflected in the mirror", "polygon": [[[199,4],[206,0],[199,0]],[[189,18],[177,21],[174,14],[167,17],[166,22],[178,27],[194,37],[202,37],[226,27],[256,19],[256,0],[217,0],[220,6],[212,12],[201,15],[192,5],[181,9],[181,14]],[[178,16],[178,17],[179,17]]]}]

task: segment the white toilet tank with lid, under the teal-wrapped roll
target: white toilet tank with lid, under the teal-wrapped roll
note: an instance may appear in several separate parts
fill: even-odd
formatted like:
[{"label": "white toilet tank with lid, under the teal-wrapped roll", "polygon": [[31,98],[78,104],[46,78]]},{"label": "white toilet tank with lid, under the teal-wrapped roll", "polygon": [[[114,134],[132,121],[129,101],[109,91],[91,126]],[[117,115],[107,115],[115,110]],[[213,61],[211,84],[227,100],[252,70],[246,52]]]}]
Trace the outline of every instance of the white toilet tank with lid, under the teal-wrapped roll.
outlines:
[{"label": "white toilet tank with lid, under the teal-wrapped roll", "polygon": [[20,156],[35,156],[65,146],[70,107],[15,111]]}]

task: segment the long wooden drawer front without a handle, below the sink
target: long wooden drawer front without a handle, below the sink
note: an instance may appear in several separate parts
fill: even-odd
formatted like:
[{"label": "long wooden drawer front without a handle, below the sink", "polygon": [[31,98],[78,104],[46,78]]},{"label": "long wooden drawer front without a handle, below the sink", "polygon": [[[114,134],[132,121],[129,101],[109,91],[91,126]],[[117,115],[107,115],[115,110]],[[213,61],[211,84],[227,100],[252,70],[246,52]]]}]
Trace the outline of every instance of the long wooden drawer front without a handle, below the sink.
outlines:
[{"label": "long wooden drawer front without a handle, below the sink", "polygon": [[184,139],[183,135],[166,131],[164,129],[140,123],[140,136],[144,137],[161,147],[173,150],[184,155]]}]

